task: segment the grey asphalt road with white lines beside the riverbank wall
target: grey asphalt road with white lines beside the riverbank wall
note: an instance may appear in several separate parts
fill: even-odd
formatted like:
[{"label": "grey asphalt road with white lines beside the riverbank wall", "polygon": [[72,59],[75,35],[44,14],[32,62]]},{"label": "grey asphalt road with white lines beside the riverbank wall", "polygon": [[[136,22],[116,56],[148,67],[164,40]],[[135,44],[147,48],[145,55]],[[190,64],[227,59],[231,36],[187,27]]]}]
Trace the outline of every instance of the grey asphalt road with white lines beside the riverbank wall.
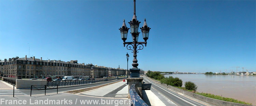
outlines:
[{"label": "grey asphalt road with white lines beside the riverbank wall", "polygon": [[182,96],[180,94],[177,94],[176,92],[173,92],[165,87],[162,87],[159,84],[154,83],[150,79],[143,77],[145,83],[152,83],[151,87],[156,89],[159,93],[161,93],[163,96],[174,102],[178,106],[210,106],[209,104],[203,104],[194,100],[191,100],[185,96]]}]

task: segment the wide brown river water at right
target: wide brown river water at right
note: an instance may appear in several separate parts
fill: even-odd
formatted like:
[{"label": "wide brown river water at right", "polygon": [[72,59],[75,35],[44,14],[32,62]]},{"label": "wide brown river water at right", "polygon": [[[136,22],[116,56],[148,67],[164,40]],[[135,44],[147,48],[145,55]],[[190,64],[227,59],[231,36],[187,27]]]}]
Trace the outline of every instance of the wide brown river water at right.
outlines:
[{"label": "wide brown river water at right", "polygon": [[182,79],[183,87],[186,81],[191,81],[198,86],[198,92],[212,93],[256,105],[256,76],[165,75],[169,76]]}]

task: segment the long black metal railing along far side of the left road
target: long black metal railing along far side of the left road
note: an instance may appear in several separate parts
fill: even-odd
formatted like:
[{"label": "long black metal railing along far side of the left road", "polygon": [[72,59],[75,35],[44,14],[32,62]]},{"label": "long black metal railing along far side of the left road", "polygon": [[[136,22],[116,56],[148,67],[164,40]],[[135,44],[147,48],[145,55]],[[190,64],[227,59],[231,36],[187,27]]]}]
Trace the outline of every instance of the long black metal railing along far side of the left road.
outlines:
[{"label": "long black metal railing along far side of the left road", "polygon": [[107,81],[113,81],[123,78],[116,78],[116,79],[96,79],[96,80],[83,80],[83,81],[60,81],[60,82],[47,82],[47,86],[54,87],[54,85],[59,86],[71,86],[71,85],[84,85],[84,84],[92,84],[92,83],[101,83]]}]

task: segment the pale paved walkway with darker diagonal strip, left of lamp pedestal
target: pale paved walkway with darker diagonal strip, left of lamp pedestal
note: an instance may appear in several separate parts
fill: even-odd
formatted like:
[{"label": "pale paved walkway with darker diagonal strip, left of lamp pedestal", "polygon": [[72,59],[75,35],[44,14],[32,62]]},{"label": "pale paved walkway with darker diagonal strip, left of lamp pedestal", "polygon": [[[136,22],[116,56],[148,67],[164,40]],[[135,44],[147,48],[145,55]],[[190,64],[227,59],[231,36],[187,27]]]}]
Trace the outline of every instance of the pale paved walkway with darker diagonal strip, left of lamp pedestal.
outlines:
[{"label": "pale paved walkway with darker diagonal strip, left of lamp pedestal", "polygon": [[81,94],[96,97],[127,98],[128,85],[126,85],[126,83],[127,82],[118,82],[105,87],[101,87],[99,89],[90,90]]}]

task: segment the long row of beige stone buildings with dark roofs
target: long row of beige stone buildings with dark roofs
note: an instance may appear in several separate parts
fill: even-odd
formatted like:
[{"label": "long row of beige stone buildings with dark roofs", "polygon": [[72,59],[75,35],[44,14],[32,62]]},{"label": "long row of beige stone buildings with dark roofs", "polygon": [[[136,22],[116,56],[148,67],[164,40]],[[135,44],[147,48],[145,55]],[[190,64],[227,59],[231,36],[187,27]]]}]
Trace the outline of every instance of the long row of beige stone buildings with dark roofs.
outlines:
[{"label": "long row of beige stone buildings with dark roofs", "polygon": [[42,60],[35,57],[9,58],[0,60],[1,77],[12,78],[46,78],[50,76],[89,76],[90,78],[103,78],[122,76],[130,71],[122,68],[110,68],[93,64],[77,63],[77,60],[69,62],[60,60]]}]

